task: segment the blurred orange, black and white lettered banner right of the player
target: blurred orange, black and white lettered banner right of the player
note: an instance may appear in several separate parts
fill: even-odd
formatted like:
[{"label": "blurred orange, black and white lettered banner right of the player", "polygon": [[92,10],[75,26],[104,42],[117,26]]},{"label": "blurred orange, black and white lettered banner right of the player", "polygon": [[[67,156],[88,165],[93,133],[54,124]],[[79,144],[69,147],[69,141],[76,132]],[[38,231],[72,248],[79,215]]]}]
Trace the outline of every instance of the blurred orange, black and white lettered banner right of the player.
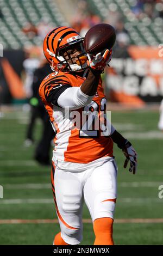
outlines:
[{"label": "blurred orange, black and white lettered banner right of the player", "polygon": [[[124,54],[126,52],[126,54]],[[106,96],[114,102],[142,106],[163,96],[163,54],[159,47],[129,46],[116,50],[107,69]]]}]

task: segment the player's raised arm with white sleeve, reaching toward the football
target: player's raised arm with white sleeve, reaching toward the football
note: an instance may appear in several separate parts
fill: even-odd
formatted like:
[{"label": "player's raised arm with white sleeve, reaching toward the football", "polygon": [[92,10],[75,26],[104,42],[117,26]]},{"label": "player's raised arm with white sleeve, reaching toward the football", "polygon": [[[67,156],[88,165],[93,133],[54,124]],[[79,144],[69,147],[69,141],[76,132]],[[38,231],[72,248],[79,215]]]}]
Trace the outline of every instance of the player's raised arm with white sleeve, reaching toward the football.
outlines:
[{"label": "player's raised arm with white sleeve, reaching toward the football", "polygon": [[[76,60],[79,54],[81,52],[78,48],[74,47],[73,51],[71,50],[70,52],[70,57]],[[111,51],[109,50],[106,50],[103,55],[99,53],[92,58],[89,56],[89,74],[80,87],[72,87],[68,85],[67,81],[62,82],[62,80],[58,83],[58,78],[54,77],[52,80],[52,89],[47,90],[47,101],[53,103],[53,105],[62,108],[69,107],[70,109],[77,109],[88,105],[97,91],[101,72],[110,59]]]}]

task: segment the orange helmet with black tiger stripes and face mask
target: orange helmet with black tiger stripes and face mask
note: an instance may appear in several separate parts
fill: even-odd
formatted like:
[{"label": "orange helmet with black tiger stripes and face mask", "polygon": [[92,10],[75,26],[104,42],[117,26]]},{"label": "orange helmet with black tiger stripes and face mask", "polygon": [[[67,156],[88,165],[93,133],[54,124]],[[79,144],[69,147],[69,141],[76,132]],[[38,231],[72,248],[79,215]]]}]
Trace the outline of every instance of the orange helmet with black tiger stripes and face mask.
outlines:
[{"label": "orange helmet with black tiger stripes and face mask", "polygon": [[[77,47],[80,54],[76,61],[67,51]],[[69,27],[57,27],[49,32],[43,41],[43,53],[53,71],[78,71],[87,68],[87,57],[83,47],[83,38]],[[66,56],[68,56],[65,59]]]}]

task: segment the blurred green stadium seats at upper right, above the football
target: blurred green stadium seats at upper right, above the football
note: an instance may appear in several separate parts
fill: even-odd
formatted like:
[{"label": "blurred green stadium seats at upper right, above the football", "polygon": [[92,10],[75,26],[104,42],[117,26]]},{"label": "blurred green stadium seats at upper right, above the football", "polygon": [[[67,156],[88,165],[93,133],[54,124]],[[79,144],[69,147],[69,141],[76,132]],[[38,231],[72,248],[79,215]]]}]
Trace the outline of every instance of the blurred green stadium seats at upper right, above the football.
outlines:
[{"label": "blurred green stadium seats at upper right, above the football", "polygon": [[124,21],[124,27],[129,33],[131,44],[158,45],[162,42],[162,19],[155,17],[153,20],[144,15],[142,20],[136,18],[131,9],[135,0],[89,0],[91,9],[107,19],[109,11],[118,11]]}]

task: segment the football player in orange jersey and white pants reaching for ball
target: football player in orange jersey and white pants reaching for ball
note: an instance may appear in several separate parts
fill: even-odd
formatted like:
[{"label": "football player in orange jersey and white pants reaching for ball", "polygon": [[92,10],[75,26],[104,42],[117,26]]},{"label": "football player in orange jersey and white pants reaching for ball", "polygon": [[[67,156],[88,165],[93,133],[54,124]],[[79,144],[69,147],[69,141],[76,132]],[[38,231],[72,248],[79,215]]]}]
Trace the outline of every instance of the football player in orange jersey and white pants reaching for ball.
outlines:
[{"label": "football player in orange jersey and white pants reaching for ball", "polygon": [[[86,54],[83,38],[69,27],[57,27],[43,42],[43,52],[53,72],[42,81],[39,94],[54,131],[52,190],[61,232],[54,245],[78,245],[82,241],[82,209],[85,201],[92,218],[94,245],[113,245],[112,224],[117,197],[117,166],[113,143],[126,156],[124,167],[136,172],[136,152],[113,126],[106,136],[101,127],[89,129],[87,113],[105,113],[106,99],[101,73],[110,62],[111,50]],[[68,114],[67,114],[68,109]],[[84,124],[72,124],[73,113]],[[104,114],[105,119],[105,114]],[[92,119],[94,120],[94,119]],[[104,124],[107,122],[104,121]],[[105,127],[107,129],[107,127]]]}]

